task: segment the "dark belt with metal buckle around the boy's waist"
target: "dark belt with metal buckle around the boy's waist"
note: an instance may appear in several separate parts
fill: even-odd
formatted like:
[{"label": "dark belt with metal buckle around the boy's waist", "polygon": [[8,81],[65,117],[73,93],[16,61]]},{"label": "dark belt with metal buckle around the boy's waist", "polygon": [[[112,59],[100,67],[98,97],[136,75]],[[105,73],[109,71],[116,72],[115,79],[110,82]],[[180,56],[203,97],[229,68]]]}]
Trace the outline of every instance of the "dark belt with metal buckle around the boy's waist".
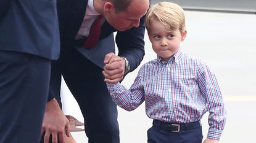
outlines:
[{"label": "dark belt with metal buckle around the boy's waist", "polygon": [[191,122],[191,123],[168,123],[168,122],[162,122],[159,120],[154,120],[153,126],[156,126],[159,129],[165,129],[170,132],[178,133],[182,130],[199,128],[201,126],[201,123],[200,121]]}]

